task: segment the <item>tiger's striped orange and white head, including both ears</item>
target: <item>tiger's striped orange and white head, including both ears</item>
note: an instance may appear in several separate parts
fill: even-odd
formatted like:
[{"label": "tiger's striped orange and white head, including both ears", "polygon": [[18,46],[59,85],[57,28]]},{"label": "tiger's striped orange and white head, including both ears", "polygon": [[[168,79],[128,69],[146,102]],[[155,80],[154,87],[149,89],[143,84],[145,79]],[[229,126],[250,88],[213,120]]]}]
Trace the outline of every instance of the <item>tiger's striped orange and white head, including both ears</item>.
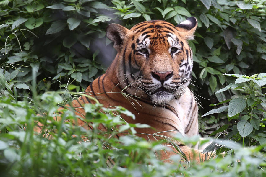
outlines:
[{"label": "tiger's striped orange and white head, including both ears", "polygon": [[107,26],[107,37],[117,50],[113,68],[127,93],[167,104],[178,99],[189,85],[193,39],[197,19],[189,17],[177,26],[163,20],[139,23],[130,30]]}]

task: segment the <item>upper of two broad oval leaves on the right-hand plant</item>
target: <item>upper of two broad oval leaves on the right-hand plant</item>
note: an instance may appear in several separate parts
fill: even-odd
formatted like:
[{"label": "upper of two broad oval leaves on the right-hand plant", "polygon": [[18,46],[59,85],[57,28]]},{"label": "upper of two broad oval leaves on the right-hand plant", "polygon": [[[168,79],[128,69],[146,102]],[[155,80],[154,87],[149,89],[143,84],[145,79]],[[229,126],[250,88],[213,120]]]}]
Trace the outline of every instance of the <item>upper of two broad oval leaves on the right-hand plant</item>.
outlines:
[{"label": "upper of two broad oval leaves on the right-hand plant", "polygon": [[237,113],[242,112],[245,107],[246,107],[246,100],[245,99],[243,99],[243,98],[232,99],[228,105],[228,116],[232,117],[232,116],[236,115]]}]

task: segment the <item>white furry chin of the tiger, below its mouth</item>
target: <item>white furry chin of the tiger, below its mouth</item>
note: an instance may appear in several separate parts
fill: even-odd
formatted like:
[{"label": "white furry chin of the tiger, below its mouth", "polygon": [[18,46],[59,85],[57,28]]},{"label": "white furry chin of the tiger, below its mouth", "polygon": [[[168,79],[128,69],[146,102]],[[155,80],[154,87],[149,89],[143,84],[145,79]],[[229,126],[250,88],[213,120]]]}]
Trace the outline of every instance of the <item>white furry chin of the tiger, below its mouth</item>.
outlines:
[{"label": "white furry chin of the tiger, below its mouth", "polygon": [[150,95],[151,102],[153,104],[168,104],[175,98],[175,95],[167,91],[160,91]]}]

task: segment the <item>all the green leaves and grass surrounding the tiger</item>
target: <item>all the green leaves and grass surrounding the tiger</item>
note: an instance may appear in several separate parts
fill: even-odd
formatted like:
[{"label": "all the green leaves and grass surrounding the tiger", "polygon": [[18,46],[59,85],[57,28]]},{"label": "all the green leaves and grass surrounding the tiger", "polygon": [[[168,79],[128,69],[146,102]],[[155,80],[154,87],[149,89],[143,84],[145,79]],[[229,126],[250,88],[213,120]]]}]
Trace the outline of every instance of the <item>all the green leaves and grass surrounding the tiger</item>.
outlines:
[{"label": "all the green leaves and grass surrounding the tiger", "polygon": [[[200,165],[180,155],[163,163],[154,152],[167,147],[137,137],[134,127],[147,125],[127,124],[113,114],[131,115],[123,108],[85,105],[85,121],[103,123],[105,132],[64,122],[76,121],[71,110],[53,120],[58,107],[113,60],[107,24],[131,28],[150,19],[178,24],[190,16],[198,19],[189,44],[200,134],[217,139],[206,151],[219,148],[223,155]],[[1,0],[0,176],[265,176],[265,29],[263,0]],[[51,139],[33,131],[37,121]],[[127,129],[128,135],[112,138]],[[192,146],[200,141],[174,139]]]}]

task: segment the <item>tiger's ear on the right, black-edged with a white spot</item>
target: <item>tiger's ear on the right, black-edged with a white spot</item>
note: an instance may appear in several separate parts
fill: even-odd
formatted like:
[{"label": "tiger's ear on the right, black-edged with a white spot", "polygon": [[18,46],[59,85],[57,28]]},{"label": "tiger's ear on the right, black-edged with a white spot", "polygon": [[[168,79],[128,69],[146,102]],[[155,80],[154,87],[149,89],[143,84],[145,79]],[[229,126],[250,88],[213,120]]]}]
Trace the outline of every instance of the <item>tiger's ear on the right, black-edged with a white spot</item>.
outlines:
[{"label": "tiger's ear on the right, black-edged with a white spot", "polygon": [[189,17],[185,21],[176,25],[176,29],[180,32],[181,37],[186,40],[194,39],[194,32],[197,28],[198,22],[195,17]]}]

